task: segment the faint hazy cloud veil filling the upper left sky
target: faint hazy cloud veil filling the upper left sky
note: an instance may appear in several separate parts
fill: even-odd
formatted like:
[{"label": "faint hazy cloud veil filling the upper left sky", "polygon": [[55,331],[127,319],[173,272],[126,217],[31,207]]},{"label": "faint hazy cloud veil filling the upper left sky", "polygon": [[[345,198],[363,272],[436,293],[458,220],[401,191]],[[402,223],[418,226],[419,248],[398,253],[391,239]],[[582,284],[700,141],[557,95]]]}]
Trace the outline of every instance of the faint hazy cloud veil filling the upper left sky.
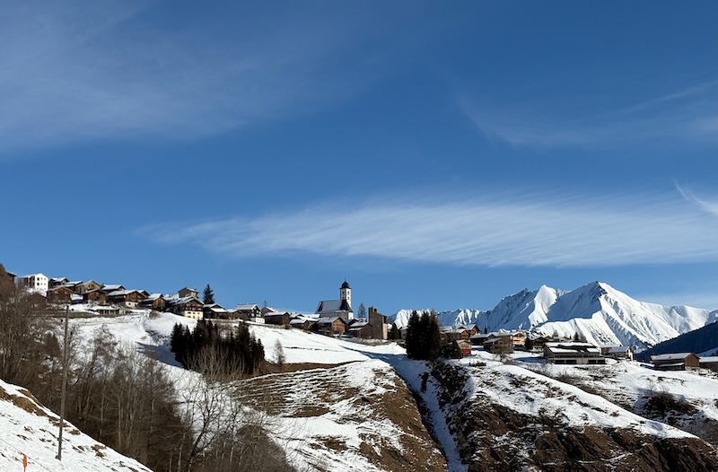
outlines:
[{"label": "faint hazy cloud veil filling the upper left sky", "polygon": [[0,154],[194,138],[320,109],[372,83],[382,66],[353,53],[391,21],[309,3],[4,4]]}]

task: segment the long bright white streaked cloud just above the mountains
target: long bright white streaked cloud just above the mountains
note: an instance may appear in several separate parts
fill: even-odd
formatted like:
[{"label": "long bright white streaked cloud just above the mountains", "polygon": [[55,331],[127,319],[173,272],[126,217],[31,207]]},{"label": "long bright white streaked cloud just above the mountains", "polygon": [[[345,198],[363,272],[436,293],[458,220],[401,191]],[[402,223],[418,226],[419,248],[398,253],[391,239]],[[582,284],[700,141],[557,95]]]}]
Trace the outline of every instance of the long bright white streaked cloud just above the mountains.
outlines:
[{"label": "long bright white streaked cloud just above the mountains", "polygon": [[718,259],[718,220],[676,195],[385,198],[145,227],[242,258],[309,253],[451,265],[597,267]]}]

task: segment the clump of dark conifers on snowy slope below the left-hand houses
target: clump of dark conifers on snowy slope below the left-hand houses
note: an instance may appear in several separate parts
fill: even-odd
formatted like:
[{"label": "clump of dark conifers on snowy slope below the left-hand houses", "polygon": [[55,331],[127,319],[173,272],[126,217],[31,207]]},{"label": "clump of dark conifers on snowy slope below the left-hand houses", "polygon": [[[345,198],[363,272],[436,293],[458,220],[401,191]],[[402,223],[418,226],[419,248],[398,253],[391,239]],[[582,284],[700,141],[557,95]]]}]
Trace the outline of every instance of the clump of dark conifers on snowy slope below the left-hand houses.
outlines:
[{"label": "clump of dark conifers on snowy slope below the left-hand houses", "polygon": [[[212,321],[197,321],[194,329],[176,324],[172,328],[171,350],[185,369],[207,374],[201,358],[212,357],[225,380],[252,374],[264,362],[264,346],[244,323],[235,328],[220,330]],[[213,366],[214,367],[214,366]]]}]

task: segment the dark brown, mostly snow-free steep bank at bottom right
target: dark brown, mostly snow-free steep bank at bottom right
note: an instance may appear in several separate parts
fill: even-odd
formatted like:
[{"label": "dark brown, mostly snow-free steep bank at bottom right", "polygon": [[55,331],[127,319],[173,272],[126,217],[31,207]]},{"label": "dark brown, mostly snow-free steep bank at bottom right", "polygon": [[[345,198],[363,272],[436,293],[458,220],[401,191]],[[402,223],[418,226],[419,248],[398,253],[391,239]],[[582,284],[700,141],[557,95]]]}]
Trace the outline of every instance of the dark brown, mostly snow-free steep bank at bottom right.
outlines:
[{"label": "dark brown, mostly snow-free steep bank at bottom right", "polygon": [[694,437],[565,424],[555,414],[530,415],[480,392],[468,398],[466,368],[438,363],[431,375],[442,387],[442,408],[469,471],[718,470],[716,451]]}]

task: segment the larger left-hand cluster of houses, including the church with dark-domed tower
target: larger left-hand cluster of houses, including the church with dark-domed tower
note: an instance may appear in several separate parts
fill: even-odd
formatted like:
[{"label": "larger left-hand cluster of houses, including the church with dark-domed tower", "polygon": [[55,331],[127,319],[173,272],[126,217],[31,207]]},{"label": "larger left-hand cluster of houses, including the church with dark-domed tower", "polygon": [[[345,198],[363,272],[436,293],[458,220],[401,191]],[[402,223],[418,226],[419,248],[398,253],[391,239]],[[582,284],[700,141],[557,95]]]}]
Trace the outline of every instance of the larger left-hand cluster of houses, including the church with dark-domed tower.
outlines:
[{"label": "larger left-hand cluster of houses, including the church with dark-domed tower", "polygon": [[339,287],[337,300],[323,300],[316,313],[299,314],[259,308],[255,303],[244,303],[225,309],[218,303],[203,303],[197,290],[184,287],[178,293],[149,293],[127,289],[121,284],[100,284],[93,280],[71,281],[65,277],[49,278],[42,274],[17,277],[8,273],[12,282],[34,293],[51,305],[85,305],[99,315],[118,315],[127,310],[149,309],[169,311],[190,319],[242,319],[255,323],[300,328],[328,336],[349,336],[362,339],[387,339],[386,316],[369,307],[365,318],[355,318],[352,309],[352,289],[344,281]]}]

